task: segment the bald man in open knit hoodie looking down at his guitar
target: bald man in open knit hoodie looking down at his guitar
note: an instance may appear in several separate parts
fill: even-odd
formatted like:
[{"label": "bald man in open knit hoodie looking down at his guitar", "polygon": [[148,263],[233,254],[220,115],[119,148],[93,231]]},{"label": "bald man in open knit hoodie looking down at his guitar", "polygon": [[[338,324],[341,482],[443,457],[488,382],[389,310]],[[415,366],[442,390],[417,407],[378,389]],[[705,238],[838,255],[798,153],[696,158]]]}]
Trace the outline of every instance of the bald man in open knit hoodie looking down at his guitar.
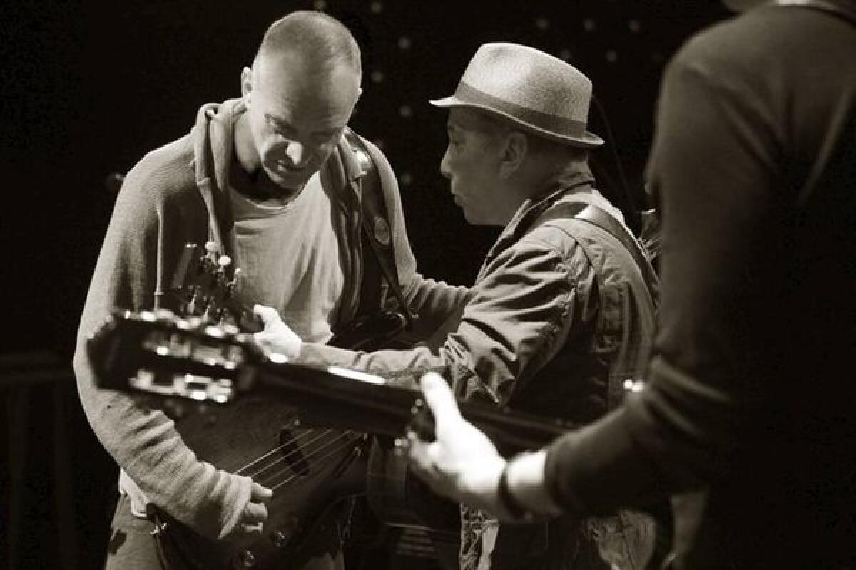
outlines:
[{"label": "bald man in open knit hoodie looking down at his guitar", "polygon": [[[351,292],[366,273],[366,249],[348,185],[363,173],[344,133],[361,77],[359,46],[340,22],[287,15],[242,70],[241,97],[203,106],[186,136],[153,150],[125,178],[74,355],[87,418],[120,467],[107,567],[161,567],[149,516],[156,512],[212,540],[252,537],[272,491],[199,461],[160,411],[98,391],[86,338],[113,307],[171,308],[163,291],[185,244],[209,240],[241,268],[241,295],[288,314],[301,336],[325,343],[354,319],[361,308]],[[403,299],[430,331],[467,291],[415,273],[395,176],[375,146],[362,144],[381,181]],[[306,567],[342,567],[341,529],[327,528]]]}]

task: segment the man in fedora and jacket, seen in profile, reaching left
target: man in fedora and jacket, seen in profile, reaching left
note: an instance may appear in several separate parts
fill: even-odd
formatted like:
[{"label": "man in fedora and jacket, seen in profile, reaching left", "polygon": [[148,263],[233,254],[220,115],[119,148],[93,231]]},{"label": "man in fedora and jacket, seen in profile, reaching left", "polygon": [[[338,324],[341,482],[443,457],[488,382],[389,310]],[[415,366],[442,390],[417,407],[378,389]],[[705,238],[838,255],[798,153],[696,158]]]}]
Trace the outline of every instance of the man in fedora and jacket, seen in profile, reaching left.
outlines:
[{"label": "man in fedora and jacket, seen in profile, reaching left", "polygon": [[[440,170],[455,203],[470,223],[503,227],[449,335],[411,350],[340,350],[301,342],[275,311],[257,308],[259,342],[401,385],[441,373],[463,400],[580,425],[614,408],[649,356],[656,291],[587,166],[603,144],[586,130],[590,99],[591,81],[567,62],[525,45],[482,45],[455,94],[431,102],[449,109]],[[464,570],[633,568],[652,548],[653,523],[630,511],[517,526],[462,513]]]}]

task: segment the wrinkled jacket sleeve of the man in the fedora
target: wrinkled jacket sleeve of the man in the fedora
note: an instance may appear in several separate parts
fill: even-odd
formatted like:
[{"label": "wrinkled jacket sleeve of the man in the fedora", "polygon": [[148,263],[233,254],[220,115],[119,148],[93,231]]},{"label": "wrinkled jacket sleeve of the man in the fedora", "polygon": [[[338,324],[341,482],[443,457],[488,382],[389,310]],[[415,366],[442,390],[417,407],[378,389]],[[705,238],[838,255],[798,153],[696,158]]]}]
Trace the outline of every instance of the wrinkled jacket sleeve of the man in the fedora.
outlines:
[{"label": "wrinkled jacket sleeve of the man in the fedora", "polygon": [[579,246],[569,259],[532,232],[490,261],[460,323],[437,348],[366,353],[303,344],[298,360],[356,368],[407,387],[434,371],[459,397],[504,403],[515,382],[530,379],[562,346],[589,302],[591,289],[581,283],[590,284],[593,271]]}]

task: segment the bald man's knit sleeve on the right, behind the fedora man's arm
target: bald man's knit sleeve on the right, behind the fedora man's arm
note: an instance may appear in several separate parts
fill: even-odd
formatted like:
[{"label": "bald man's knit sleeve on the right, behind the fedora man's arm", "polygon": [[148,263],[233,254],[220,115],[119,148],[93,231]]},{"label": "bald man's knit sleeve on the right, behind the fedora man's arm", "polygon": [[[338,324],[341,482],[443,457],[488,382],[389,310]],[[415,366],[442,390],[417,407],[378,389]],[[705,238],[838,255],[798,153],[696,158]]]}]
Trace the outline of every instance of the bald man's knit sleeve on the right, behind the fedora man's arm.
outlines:
[{"label": "bald man's knit sleeve on the right, behind the fedora man's arm", "polygon": [[[383,153],[377,146],[366,141],[366,148],[372,154],[377,165],[383,187],[383,198],[389,214],[395,248],[395,267],[398,281],[407,305],[418,315],[413,324],[413,332],[408,335],[414,339],[428,338],[441,326],[454,326],[460,318],[461,310],[467,303],[467,287],[447,285],[443,281],[426,279],[416,270],[416,259],[407,239],[404,212],[401,208],[401,194],[395,173]],[[448,324],[447,323],[452,323]]]}]

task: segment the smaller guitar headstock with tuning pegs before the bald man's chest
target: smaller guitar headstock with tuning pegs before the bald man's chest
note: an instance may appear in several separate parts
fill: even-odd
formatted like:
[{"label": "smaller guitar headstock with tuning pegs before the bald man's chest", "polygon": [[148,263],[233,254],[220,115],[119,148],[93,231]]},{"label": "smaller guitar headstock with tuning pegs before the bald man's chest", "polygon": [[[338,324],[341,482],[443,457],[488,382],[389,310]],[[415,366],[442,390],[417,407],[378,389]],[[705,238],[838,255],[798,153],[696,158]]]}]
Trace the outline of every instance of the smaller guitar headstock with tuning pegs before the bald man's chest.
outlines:
[{"label": "smaller guitar headstock with tuning pegs before the bald man's chest", "polygon": [[185,244],[169,294],[178,301],[178,312],[199,316],[219,325],[234,325],[243,332],[259,332],[262,322],[242,303],[236,288],[240,267],[221,255],[217,244]]}]

